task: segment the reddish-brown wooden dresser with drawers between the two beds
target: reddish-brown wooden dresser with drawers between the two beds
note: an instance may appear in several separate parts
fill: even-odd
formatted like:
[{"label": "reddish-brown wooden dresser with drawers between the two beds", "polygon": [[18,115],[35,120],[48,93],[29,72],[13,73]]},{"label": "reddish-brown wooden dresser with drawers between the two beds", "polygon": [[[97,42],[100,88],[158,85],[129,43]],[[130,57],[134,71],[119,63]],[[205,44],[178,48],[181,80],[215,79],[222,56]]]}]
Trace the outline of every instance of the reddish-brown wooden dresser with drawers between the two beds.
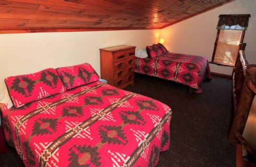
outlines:
[{"label": "reddish-brown wooden dresser with drawers between the two beds", "polygon": [[120,45],[100,49],[101,78],[121,89],[133,84],[135,47]]}]

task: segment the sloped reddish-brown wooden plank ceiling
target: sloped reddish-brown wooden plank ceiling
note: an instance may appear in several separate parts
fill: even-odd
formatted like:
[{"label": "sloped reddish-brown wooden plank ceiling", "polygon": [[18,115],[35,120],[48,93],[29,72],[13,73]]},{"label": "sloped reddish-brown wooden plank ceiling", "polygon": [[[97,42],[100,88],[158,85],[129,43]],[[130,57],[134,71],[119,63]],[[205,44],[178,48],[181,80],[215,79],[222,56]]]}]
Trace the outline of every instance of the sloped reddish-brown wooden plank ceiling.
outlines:
[{"label": "sloped reddish-brown wooden plank ceiling", "polygon": [[0,0],[0,33],[161,29],[234,0]]}]

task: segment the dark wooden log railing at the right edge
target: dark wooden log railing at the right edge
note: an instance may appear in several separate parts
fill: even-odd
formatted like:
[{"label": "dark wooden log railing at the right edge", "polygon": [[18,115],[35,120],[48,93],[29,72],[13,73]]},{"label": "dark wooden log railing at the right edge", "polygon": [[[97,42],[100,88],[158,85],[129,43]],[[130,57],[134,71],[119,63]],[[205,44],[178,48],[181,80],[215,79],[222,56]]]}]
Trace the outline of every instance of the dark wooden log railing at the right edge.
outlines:
[{"label": "dark wooden log railing at the right edge", "polygon": [[233,73],[234,120],[228,140],[238,143],[235,132],[243,133],[252,101],[256,94],[256,65],[248,64],[245,52],[240,50]]}]

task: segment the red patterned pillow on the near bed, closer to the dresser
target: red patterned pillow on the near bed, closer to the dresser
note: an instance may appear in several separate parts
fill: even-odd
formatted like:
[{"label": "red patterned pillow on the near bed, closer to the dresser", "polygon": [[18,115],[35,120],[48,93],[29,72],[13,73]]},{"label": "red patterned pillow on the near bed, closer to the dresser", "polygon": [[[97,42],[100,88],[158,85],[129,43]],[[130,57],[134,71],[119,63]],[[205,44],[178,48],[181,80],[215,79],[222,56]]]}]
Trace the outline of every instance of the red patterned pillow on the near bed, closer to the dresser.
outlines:
[{"label": "red patterned pillow on the near bed, closer to the dresser", "polygon": [[88,63],[61,67],[57,69],[57,72],[68,90],[100,79],[94,68]]}]

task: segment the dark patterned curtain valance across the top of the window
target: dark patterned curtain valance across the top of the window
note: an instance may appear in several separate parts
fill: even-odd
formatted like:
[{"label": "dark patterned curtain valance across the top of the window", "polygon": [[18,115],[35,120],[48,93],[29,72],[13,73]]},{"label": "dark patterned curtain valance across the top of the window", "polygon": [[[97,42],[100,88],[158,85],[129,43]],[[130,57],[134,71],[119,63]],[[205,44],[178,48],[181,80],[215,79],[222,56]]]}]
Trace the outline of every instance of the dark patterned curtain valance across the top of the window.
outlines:
[{"label": "dark patterned curtain valance across the top of the window", "polygon": [[251,15],[219,15],[217,29],[246,30]]}]

